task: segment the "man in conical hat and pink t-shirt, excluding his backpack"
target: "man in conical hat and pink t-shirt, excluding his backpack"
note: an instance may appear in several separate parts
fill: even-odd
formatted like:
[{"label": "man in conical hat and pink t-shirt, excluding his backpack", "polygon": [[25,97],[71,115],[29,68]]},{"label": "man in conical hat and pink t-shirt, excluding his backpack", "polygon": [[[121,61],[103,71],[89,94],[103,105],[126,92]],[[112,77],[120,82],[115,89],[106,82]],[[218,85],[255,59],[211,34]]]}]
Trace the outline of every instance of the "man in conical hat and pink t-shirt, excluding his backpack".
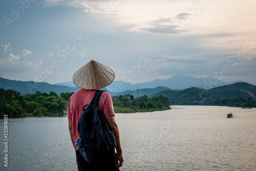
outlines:
[{"label": "man in conical hat and pink t-shirt, excluding his backpack", "polygon": [[76,160],[78,170],[97,170],[97,171],[114,171],[119,170],[122,166],[123,157],[120,145],[119,131],[115,121],[115,113],[113,110],[113,102],[108,92],[104,91],[99,100],[99,109],[105,116],[106,122],[109,125],[116,138],[116,156],[115,159],[102,158],[99,161],[88,163],[79,153],[78,146],[75,141],[79,139],[77,131],[77,123],[83,112],[83,106],[90,104],[95,92],[103,87],[108,86],[114,81],[115,74],[111,68],[102,65],[94,60],[91,60],[86,65],[77,70],[73,76],[74,84],[81,88],[75,92],[69,99],[68,103],[68,120],[70,137],[76,151]]}]

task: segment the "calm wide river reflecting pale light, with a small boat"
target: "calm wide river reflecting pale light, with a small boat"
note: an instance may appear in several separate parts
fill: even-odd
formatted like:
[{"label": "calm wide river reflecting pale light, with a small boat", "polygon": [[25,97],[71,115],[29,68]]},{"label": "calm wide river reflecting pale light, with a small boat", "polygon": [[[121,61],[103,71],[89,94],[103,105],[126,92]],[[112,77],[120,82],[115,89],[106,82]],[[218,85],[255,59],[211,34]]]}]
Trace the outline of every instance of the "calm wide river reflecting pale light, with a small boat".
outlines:
[{"label": "calm wide river reflecting pale light, with a small boat", "polygon": [[[120,170],[256,170],[256,109],[174,105],[115,119]],[[8,153],[0,145],[0,170],[77,170],[67,117],[9,118],[8,139]]]}]

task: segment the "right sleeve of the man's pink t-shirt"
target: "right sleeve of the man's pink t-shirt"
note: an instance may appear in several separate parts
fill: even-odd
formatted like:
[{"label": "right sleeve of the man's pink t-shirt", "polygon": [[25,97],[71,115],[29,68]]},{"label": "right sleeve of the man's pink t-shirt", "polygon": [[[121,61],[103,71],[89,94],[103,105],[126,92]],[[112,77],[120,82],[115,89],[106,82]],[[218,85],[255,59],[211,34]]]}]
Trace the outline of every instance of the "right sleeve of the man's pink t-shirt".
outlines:
[{"label": "right sleeve of the man's pink t-shirt", "polygon": [[101,97],[102,98],[100,98],[99,105],[102,107],[101,111],[103,111],[103,115],[104,116],[115,116],[111,95],[108,92],[103,92]]}]

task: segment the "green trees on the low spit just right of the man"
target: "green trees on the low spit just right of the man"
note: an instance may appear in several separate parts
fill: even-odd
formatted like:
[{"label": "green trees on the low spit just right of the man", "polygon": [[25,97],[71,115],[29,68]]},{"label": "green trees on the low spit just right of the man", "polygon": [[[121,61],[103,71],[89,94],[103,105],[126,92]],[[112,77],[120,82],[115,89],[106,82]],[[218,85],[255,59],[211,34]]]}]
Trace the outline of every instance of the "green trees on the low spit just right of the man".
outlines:
[{"label": "green trees on the low spit just right of the man", "polygon": [[153,112],[170,109],[170,102],[167,97],[148,98],[146,95],[134,98],[133,95],[114,96],[113,105],[115,113]]}]

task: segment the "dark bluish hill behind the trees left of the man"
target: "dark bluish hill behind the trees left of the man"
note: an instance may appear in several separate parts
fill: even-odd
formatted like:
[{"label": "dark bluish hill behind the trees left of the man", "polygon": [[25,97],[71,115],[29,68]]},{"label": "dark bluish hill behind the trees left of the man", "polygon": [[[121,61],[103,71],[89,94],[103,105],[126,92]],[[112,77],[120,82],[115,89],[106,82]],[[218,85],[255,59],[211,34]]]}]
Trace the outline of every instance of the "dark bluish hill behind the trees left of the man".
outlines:
[{"label": "dark bluish hill behind the trees left of the man", "polygon": [[0,77],[0,88],[4,88],[5,90],[11,89],[16,90],[21,94],[27,93],[36,93],[36,92],[45,92],[50,93],[54,91],[57,95],[60,93],[68,93],[68,92],[76,92],[80,88],[71,88],[67,86],[57,86],[53,84],[49,84],[47,82],[34,82],[34,81],[16,81],[9,80]]}]

